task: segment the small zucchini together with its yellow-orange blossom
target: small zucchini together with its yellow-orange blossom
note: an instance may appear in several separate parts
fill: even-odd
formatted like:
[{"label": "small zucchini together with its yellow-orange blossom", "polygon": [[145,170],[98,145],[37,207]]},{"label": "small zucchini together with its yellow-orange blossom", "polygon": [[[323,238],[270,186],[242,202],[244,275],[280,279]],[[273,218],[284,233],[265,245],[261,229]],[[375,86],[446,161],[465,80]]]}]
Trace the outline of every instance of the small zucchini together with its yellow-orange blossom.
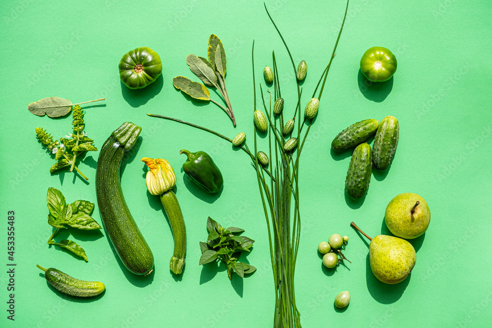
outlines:
[{"label": "small zucchini together with its yellow-orange blossom", "polygon": [[186,227],[178,198],[171,190],[176,184],[176,175],[165,159],[144,157],[141,161],[149,167],[145,177],[147,189],[152,195],[160,195],[160,202],[171,224],[174,236],[174,253],[169,268],[174,274],[180,274],[183,272],[186,255]]}]

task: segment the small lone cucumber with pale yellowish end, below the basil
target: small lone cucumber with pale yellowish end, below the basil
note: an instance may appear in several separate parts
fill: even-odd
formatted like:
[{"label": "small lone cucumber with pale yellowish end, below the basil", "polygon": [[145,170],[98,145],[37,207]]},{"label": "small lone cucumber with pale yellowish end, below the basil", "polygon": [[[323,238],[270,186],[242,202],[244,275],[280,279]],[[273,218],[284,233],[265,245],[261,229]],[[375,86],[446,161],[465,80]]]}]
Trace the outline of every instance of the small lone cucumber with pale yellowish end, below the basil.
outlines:
[{"label": "small lone cucumber with pale yellowish end, below the basil", "polygon": [[79,280],[63,273],[55,268],[36,267],[44,271],[46,280],[55,287],[56,290],[71,296],[94,297],[104,292],[104,284],[100,281]]}]

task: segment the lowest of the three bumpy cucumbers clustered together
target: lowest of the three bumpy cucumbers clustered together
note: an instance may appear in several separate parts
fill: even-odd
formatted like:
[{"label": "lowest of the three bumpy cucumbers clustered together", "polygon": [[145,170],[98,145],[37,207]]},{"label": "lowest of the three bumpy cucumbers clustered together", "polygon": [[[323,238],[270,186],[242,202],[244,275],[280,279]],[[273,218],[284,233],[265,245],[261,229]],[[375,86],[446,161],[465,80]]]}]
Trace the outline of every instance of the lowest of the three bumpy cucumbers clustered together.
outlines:
[{"label": "lowest of the three bumpy cucumbers clustered together", "polygon": [[354,149],[345,180],[345,189],[351,198],[361,198],[366,194],[371,173],[372,150],[369,144],[360,144]]}]

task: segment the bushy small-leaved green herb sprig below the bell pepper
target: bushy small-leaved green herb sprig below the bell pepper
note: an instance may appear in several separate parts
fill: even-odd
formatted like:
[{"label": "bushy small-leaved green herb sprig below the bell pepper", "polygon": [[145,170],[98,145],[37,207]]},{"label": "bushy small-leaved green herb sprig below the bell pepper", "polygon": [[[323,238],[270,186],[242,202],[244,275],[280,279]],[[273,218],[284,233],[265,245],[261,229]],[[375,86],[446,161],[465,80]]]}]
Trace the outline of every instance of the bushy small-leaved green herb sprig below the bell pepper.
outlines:
[{"label": "bushy small-leaved green herb sprig below the bell pepper", "polygon": [[207,242],[200,241],[202,256],[198,265],[222,261],[227,268],[229,280],[232,280],[232,274],[236,272],[241,278],[245,274],[253,273],[256,268],[244,262],[238,262],[241,252],[250,252],[253,246],[253,239],[246,236],[237,236],[244,232],[244,229],[237,227],[222,228],[210,216],[207,219],[207,230],[209,236]]}]

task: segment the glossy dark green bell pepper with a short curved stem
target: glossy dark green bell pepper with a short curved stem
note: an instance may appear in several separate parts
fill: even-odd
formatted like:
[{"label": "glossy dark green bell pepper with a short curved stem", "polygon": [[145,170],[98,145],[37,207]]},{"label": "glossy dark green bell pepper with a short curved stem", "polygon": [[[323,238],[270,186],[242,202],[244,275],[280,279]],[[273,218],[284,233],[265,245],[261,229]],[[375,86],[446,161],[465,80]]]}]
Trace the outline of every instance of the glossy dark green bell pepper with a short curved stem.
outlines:
[{"label": "glossy dark green bell pepper with a short curved stem", "polygon": [[190,152],[182,149],[180,154],[183,153],[188,156],[183,164],[184,173],[206,191],[218,192],[224,180],[212,157],[205,151]]}]

